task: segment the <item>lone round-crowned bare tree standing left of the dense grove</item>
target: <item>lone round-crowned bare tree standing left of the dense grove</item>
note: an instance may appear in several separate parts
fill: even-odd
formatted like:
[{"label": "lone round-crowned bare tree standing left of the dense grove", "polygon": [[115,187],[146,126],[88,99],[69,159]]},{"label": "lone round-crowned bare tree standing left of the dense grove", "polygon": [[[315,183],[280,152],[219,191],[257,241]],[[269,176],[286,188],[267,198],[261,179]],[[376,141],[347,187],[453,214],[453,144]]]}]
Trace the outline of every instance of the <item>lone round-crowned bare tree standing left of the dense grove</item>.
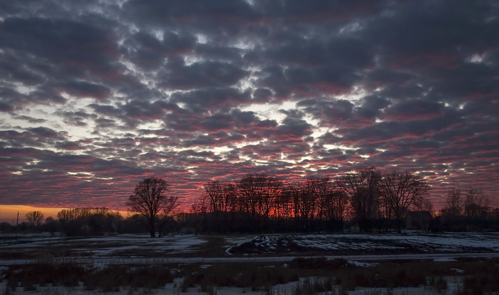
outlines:
[{"label": "lone round-crowned bare tree standing left of the dense grove", "polygon": [[172,203],[171,197],[166,195],[168,186],[161,178],[146,178],[135,185],[135,190],[126,203],[130,211],[147,218],[151,237],[156,237],[155,222],[158,213]]}]

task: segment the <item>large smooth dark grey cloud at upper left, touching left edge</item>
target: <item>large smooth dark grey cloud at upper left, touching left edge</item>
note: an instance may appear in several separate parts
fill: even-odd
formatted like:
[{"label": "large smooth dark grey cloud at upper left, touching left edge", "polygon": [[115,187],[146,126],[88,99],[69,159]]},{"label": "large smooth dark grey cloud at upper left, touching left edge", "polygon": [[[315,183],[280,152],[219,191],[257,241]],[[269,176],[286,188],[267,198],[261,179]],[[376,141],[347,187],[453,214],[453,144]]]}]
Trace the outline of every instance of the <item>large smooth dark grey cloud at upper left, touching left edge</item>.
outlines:
[{"label": "large smooth dark grey cloud at upper left, touching left edge", "polygon": [[54,66],[90,66],[90,70],[96,70],[99,61],[106,62],[116,51],[108,32],[62,18],[6,18],[0,33],[0,45],[11,50],[13,56]]}]

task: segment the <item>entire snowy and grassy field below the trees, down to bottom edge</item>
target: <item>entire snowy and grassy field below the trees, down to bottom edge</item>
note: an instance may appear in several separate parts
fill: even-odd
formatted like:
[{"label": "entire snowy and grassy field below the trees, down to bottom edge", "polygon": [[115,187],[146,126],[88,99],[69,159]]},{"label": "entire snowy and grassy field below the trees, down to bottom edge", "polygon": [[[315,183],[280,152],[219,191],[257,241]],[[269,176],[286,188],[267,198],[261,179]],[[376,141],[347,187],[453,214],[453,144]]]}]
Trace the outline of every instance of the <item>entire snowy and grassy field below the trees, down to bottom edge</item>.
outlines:
[{"label": "entire snowy and grassy field below the trees, down to bottom edge", "polygon": [[499,235],[0,236],[0,294],[499,293]]}]

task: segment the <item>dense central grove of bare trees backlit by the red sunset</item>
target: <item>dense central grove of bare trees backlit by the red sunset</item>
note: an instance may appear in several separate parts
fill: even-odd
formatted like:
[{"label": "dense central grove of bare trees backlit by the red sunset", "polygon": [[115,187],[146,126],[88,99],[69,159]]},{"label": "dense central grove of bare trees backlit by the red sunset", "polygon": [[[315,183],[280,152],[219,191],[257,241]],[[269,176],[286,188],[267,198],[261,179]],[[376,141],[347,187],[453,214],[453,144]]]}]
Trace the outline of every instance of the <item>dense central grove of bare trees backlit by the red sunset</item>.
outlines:
[{"label": "dense central grove of bare trees backlit by the red sunset", "polygon": [[191,213],[201,231],[339,231],[345,220],[361,231],[373,227],[401,231],[411,210],[430,210],[430,185],[408,171],[359,169],[337,179],[310,177],[286,183],[266,174],[235,182],[210,181]]}]

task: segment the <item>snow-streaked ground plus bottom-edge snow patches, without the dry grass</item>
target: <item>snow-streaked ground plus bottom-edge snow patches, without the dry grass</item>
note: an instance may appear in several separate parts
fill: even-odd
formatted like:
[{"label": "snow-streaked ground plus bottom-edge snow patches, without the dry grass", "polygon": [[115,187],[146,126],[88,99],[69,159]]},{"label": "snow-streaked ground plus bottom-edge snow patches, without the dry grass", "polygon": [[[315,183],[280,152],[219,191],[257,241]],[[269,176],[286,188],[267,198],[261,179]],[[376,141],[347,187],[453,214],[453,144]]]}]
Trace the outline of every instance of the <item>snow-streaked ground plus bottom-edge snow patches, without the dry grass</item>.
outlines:
[{"label": "snow-streaked ground plus bottom-edge snow patches, without the dry grass", "polygon": [[[217,243],[213,244],[213,241]],[[207,248],[210,247],[210,248]],[[207,249],[213,255],[207,255]],[[328,259],[345,258],[350,265],[362,267],[375,264],[376,260],[432,259],[448,261],[459,257],[499,257],[499,235],[482,233],[445,234],[325,234],[325,235],[239,235],[239,236],[194,236],[172,235],[150,238],[146,235],[119,235],[110,237],[66,238],[48,235],[1,236],[0,269],[18,264],[40,261],[65,261],[104,265],[127,265],[154,263],[199,263],[210,267],[216,262],[275,262],[286,263],[295,257],[323,256]],[[5,280],[0,283],[0,294],[5,294]],[[291,294],[296,282],[274,286],[273,294]],[[155,294],[206,294],[190,288],[179,290],[179,283],[167,284],[154,290]],[[452,294],[456,286],[450,284]],[[134,291],[135,292],[135,291]],[[145,294],[146,291],[121,290],[112,293]],[[357,289],[356,294],[385,294],[386,291]],[[37,292],[15,294],[99,294],[79,288],[43,287]],[[218,288],[216,294],[264,294],[239,288]],[[393,290],[393,294],[434,294],[433,290],[404,288]]]}]

